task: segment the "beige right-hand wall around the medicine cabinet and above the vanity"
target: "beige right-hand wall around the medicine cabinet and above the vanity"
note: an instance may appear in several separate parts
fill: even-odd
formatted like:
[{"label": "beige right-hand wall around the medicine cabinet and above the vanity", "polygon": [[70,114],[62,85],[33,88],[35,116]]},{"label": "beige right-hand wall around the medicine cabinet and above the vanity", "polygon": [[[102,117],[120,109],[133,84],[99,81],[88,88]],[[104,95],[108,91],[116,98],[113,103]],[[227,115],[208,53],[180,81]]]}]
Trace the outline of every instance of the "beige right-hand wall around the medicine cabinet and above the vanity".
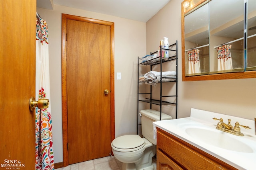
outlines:
[{"label": "beige right-hand wall around the medicine cabinet and above the vanity", "polygon": [[196,108],[253,119],[256,117],[256,78],[182,82],[182,1],[171,0],[146,26],[147,53],[157,49],[163,37],[169,38],[169,44],[178,40],[178,117],[188,117],[190,109]]}]

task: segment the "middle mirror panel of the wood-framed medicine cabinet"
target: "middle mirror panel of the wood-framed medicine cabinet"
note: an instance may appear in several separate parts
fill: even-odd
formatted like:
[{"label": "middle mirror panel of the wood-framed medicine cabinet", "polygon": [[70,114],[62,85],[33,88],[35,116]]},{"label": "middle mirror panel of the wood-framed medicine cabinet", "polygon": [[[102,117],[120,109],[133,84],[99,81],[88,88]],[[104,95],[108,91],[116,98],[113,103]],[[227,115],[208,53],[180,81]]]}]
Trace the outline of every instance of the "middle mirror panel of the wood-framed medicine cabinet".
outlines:
[{"label": "middle mirror panel of the wood-framed medicine cabinet", "polygon": [[244,71],[244,0],[212,0],[209,10],[210,72]]}]

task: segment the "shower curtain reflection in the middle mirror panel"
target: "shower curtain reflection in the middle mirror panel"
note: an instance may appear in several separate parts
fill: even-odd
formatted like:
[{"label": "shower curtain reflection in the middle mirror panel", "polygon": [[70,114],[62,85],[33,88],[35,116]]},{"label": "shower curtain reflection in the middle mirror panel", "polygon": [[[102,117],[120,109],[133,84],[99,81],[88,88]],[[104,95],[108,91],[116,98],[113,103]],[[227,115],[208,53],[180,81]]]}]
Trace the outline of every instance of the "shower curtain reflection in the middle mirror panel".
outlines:
[{"label": "shower curtain reflection in the middle mirror panel", "polygon": [[231,46],[232,45],[222,45],[217,48],[218,71],[233,69],[231,52],[230,52]]}]

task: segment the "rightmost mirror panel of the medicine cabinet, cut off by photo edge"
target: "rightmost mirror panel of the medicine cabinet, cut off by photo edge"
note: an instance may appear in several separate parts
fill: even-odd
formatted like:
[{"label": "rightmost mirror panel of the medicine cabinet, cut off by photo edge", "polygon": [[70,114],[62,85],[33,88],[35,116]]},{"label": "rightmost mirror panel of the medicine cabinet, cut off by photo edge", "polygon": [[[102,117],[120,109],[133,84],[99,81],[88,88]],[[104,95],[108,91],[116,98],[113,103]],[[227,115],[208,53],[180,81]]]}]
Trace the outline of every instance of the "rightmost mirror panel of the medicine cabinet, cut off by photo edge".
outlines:
[{"label": "rightmost mirror panel of the medicine cabinet, cut off by photo edge", "polygon": [[247,67],[256,70],[256,0],[247,0]]}]

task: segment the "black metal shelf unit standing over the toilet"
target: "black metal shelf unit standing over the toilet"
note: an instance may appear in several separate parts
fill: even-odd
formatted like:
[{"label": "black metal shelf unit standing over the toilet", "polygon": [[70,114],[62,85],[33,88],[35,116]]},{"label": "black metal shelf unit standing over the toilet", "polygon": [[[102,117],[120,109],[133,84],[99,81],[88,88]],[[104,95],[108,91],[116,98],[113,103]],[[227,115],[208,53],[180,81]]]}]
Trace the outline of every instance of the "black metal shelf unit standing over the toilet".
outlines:
[{"label": "black metal shelf unit standing over the toilet", "polygon": [[[169,58],[167,61],[162,60],[162,53],[160,53],[159,57],[156,57],[154,59],[148,60],[146,62],[142,63],[142,58],[138,57],[138,105],[137,105],[137,111],[138,111],[138,115],[137,115],[137,134],[138,134],[138,126],[141,125],[139,124],[139,102],[146,102],[146,103],[150,103],[150,109],[152,107],[152,104],[154,105],[158,105],[160,106],[160,120],[162,119],[162,105],[175,105],[176,106],[176,113],[175,113],[175,119],[177,119],[177,111],[178,111],[178,47],[177,47],[177,43],[178,41],[176,41],[176,43],[169,45],[169,49],[164,49],[164,50],[169,50],[170,51],[174,51],[175,54],[170,54]],[[160,51],[162,51],[162,48],[160,47]],[[150,55],[154,55],[157,54],[158,51],[150,53]],[[172,95],[172,96],[163,96],[162,95],[162,83],[168,83],[168,82],[162,82],[162,64],[166,63],[166,62],[170,62],[170,61],[176,61],[176,78],[174,78],[174,80],[172,81],[168,81],[168,82],[176,82],[176,95]],[[160,84],[160,100],[155,100],[152,99],[152,86],[150,86],[150,93],[139,93],[139,84],[142,83],[139,81],[139,69],[141,65],[149,65],[150,66],[150,70],[152,70],[152,66],[160,64],[160,81],[158,82]],[[144,100],[140,100],[139,96],[142,94],[150,94],[150,98],[146,98]],[[176,98],[175,103],[174,102],[166,102],[164,100],[162,100],[162,98],[167,98],[167,97],[174,97]]]}]

